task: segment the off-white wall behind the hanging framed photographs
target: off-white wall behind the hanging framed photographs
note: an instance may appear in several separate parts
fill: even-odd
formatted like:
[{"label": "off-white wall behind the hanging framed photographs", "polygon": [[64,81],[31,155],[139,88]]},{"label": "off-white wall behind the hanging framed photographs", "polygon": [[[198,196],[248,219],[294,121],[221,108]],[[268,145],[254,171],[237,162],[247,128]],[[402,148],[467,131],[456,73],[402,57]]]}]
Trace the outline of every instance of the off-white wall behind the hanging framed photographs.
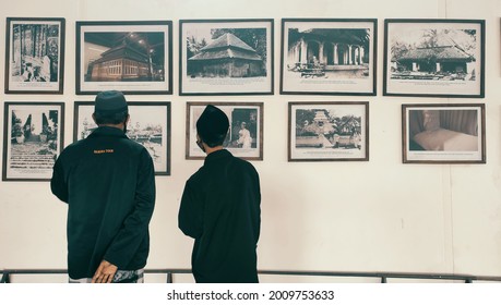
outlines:
[{"label": "off-white wall behind the hanging framed photographs", "polygon": [[[186,102],[223,100],[264,102],[264,160],[253,162],[261,174],[263,197],[260,269],[500,276],[500,14],[499,0],[3,1],[0,41],[5,39],[8,16],[65,17],[65,80],[62,96],[4,95],[0,82],[0,100],[64,101],[64,142],[69,144],[73,102],[93,99],[74,94],[75,22],[171,20],[175,94],[129,98],[172,102],[171,175],[156,180],[147,268],[190,267],[192,241],[177,229],[177,211],[184,181],[202,161],[184,160]],[[180,97],[178,21],[241,17],[275,19],[276,94]],[[281,96],[282,17],[378,19],[378,96]],[[486,98],[383,97],[384,19],[395,17],[486,20]],[[0,59],[4,59],[4,51],[0,48]],[[4,60],[0,60],[3,69]],[[370,161],[287,162],[287,102],[345,100],[370,101]],[[401,105],[407,102],[485,102],[487,164],[403,164]],[[47,182],[0,182],[0,269],[65,268],[65,205],[50,194]]]}]

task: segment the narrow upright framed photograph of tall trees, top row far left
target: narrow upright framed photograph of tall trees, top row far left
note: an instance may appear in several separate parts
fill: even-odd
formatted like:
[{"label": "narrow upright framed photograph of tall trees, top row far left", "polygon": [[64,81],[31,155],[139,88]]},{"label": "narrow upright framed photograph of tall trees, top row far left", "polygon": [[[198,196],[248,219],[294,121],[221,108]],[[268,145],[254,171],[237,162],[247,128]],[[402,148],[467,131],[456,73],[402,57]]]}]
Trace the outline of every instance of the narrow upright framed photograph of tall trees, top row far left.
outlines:
[{"label": "narrow upright framed photograph of tall trees, top row far left", "polygon": [[7,19],[5,94],[62,94],[64,22]]}]

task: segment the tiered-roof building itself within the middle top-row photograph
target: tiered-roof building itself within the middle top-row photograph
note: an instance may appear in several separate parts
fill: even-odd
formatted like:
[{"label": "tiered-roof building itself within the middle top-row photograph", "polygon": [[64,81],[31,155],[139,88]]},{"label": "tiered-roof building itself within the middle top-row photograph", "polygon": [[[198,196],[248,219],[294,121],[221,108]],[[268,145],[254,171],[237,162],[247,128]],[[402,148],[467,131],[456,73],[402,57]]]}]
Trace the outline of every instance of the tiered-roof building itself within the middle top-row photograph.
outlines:
[{"label": "tiered-roof building itself within the middle top-row photograph", "polygon": [[265,76],[263,58],[231,33],[225,33],[188,59],[190,77]]}]

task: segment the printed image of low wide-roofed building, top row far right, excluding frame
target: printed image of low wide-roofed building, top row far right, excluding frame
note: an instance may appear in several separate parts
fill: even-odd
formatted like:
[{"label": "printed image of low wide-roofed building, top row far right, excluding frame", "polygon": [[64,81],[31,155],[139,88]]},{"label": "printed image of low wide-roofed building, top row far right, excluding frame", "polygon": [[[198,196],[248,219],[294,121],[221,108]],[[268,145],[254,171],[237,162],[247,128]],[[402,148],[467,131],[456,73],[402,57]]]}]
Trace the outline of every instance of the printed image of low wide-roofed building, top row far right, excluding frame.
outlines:
[{"label": "printed image of low wide-roofed building, top row far right, excluding frame", "polygon": [[391,78],[475,81],[475,30],[425,29],[416,41],[392,45]]}]

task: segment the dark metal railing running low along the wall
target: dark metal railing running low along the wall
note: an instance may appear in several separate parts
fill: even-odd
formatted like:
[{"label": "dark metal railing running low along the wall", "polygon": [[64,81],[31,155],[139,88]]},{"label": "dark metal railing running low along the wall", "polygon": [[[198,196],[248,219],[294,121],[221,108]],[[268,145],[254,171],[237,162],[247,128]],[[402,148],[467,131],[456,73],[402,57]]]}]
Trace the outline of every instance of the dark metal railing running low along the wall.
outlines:
[{"label": "dark metal railing running low along the wall", "polygon": [[[174,274],[190,274],[190,269],[146,269],[145,273],[166,274],[167,283],[174,283]],[[5,269],[2,272],[0,283],[10,283],[12,274],[67,274],[65,269]],[[405,273],[405,272],[342,272],[342,271],[287,271],[287,270],[259,270],[260,274],[267,276],[295,276],[295,277],[331,277],[331,278],[374,278],[381,283],[387,283],[387,279],[410,280],[449,280],[473,283],[475,281],[501,282],[501,277],[470,276],[454,273]]]}]

